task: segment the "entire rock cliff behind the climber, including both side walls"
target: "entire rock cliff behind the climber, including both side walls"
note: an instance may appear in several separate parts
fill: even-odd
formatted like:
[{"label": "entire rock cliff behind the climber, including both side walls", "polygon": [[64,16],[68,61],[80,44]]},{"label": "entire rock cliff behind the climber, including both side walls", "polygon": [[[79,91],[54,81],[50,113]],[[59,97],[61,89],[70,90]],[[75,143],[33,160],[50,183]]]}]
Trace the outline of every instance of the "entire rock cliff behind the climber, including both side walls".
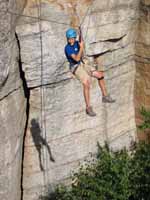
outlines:
[{"label": "entire rock cliff behind the climber, including both side walls", "polygon": [[[0,9],[0,198],[36,200],[47,185],[69,184],[97,141],[120,149],[137,139],[139,107],[150,106],[150,1],[10,0]],[[93,80],[95,118],[64,56],[65,31],[79,24],[116,98],[103,104]]]}]

